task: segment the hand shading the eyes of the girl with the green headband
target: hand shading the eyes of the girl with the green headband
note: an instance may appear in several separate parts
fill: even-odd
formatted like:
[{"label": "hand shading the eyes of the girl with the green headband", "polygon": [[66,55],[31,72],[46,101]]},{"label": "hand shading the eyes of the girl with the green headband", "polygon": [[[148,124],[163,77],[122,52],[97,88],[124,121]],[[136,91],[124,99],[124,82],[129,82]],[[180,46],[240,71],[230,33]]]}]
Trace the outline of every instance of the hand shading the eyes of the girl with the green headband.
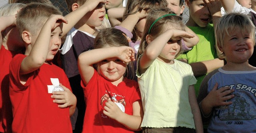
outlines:
[{"label": "hand shading the eyes of the girl with the green headband", "polygon": [[184,30],[169,29],[173,40],[180,40],[181,38],[194,38],[195,35],[185,32]]}]

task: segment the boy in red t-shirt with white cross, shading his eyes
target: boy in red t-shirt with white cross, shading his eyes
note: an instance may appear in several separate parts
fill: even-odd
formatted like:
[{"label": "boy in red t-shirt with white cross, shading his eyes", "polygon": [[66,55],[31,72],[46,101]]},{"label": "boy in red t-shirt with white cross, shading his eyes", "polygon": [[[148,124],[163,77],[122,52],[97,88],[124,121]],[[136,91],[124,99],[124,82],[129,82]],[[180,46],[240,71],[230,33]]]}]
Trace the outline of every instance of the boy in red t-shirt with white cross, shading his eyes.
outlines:
[{"label": "boy in red t-shirt with white cross, shading his eyes", "polygon": [[[68,89],[64,71],[51,63],[61,45],[61,23],[67,23],[61,14],[54,6],[40,3],[18,12],[17,27],[26,52],[10,63],[14,133],[72,133],[69,117],[76,97]],[[54,91],[61,87],[62,91]]]}]

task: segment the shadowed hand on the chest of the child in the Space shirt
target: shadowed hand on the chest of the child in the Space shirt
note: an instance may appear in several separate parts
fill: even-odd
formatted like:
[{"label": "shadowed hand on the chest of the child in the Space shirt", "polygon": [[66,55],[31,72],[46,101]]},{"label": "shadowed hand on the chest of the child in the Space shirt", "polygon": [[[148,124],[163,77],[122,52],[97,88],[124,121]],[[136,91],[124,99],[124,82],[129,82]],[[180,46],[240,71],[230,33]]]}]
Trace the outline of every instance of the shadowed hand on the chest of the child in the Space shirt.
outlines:
[{"label": "shadowed hand on the chest of the child in the Space shirt", "polygon": [[212,91],[206,96],[205,100],[211,107],[219,107],[232,104],[232,101],[227,102],[226,100],[231,99],[234,95],[229,95],[234,92],[234,89],[230,89],[230,87],[222,87],[218,88],[218,83],[214,85]]}]

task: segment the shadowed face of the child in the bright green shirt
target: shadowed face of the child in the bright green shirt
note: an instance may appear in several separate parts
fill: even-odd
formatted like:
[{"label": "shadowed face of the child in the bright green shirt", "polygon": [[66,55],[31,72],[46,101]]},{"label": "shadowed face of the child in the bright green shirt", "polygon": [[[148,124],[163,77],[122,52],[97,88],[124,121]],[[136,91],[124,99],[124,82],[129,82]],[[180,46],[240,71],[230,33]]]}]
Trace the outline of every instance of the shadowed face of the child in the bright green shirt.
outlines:
[{"label": "shadowed face of the child in the bright green shirt", "polygon": [[190,16],[186,25],[206,27],[212,17],[204,1],[193,0],[190,2],[190,0],[186,0],[185,3],[186,6],[188,6],[190,12]]}]

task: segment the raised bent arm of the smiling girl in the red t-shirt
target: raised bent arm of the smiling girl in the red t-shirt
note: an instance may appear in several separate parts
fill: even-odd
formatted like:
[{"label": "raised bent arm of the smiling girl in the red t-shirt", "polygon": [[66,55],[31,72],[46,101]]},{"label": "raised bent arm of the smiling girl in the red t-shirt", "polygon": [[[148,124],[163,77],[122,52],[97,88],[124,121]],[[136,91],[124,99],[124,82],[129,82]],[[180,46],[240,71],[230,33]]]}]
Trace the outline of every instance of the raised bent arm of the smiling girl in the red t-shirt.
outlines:
[{"label": "raised bent arm of the smiling girl in the red t-shirt", "polygon": [[124,62],[134,61],[134,50],[131,47],[109,47],[86,51],[78,57],[78,70],[82,80],[87,85],[94,74],[93,64],[108,58],[119,58]]}]

